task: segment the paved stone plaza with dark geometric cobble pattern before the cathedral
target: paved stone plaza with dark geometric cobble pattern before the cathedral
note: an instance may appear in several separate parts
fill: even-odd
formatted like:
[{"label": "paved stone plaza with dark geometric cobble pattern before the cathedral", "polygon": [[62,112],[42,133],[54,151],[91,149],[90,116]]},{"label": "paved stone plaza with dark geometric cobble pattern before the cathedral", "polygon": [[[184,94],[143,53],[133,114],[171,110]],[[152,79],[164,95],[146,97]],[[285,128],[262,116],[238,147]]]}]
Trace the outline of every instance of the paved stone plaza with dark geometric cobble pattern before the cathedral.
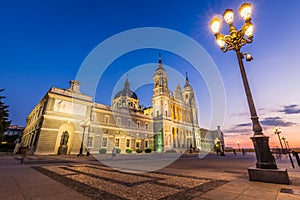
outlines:
[{"label": "paved stone plaza with dark geometric cobble pattern before the cathedral", "polygon": [[[227,153],[184,154],[170,165],[155,166],[156,155],[28,156],[0,155],[0,199],[299,199],[300,167],[293,169],[287,157],[277,159],[288,169],[290,185],[250,182],[247,167],[255,156]],[[160,162],[172,155],[164,154]],[[110,167],[104,165],[109,165]],[[131,163],[131,165],[130,165]],[[136,169],[132,168],[135,163]],[[131,166],[131,167],[130,167]]]}]

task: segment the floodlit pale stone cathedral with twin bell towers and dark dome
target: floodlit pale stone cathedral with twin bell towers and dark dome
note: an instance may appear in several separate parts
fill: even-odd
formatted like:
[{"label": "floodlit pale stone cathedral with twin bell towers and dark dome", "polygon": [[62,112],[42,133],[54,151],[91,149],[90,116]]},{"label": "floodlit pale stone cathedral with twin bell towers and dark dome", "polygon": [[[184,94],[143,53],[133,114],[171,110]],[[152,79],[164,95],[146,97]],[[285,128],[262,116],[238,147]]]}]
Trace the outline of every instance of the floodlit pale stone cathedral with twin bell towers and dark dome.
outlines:
[{"label": "floodlit pale stone cathedral with twin bell towers and dark dome", "polygon": [[93,101],[80,91],[80,82],[68,89],[51,87],[26,119],[22,146],[31,154],[185,152],[187,148],[224,149],[223,133],[200,128],[194,90],[186,74],[185,85],[168,88],[161,56],[153,75],[152,106],[139,106],[126,77],[112,106]]}]

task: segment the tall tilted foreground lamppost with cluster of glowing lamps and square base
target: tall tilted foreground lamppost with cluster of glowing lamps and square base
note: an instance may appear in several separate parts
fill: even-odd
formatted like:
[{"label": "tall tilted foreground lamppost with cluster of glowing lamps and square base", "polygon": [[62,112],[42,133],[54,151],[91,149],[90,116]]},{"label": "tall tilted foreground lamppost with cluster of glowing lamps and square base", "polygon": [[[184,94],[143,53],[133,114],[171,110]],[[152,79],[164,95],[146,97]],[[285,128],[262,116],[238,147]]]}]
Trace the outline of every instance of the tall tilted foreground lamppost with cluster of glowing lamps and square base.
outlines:
[{"label": "tall tilted foreground lamppost with cluster of glowing lamps and square base", "polygon": [[[236,53],[242,80],[244,84],[244,89],[247,97],[247,102],[251,114],[252,120],[252,130],[254,135],[251,137],[255,154],[256,154],[256,168],[250,167],[248,168],[249,178],[253,181],[263,181],[263,182],[274,182],[274,183],[289,183],[289,178],[287,175],[286,169],[279,170],[277,169],[277,165],[275,159],[271,153],[269,146],[269,137],[265,136],[262,132],[262,127],[259,123],[258,116],[256,113],[254,101],[252,98],[250,86],[248,83],[248,79],[246,76],[246,71],[244,68],[244,53],[241,52],[241,48],[253,41],[253,24],[251,23],[252,16],[252,5],[250,3],[244,3],[239,8],[239,14],[244,19],[243,26],[237,30],[233,25],[234,21],[234,12],[232,9],[226,9],[223,17],[225,22],[229,25],[229,34],[224,35],[220,33],[222,19],[219,17],[214,17],[210,22],[210,27],[212,32],[216,37],[216,42],[219,45],[222,52],[227,52],[229,50],[233,50]],[[246,60],[252,60],[252,56],[249,53],[246,53]],[[263,171],[262,169],[269,169]],[[284,173],[284,175],[276,174],[276,173]],[[264,174],[261,176],[259,174]],[[272,174],[272,175],[271,175]],[[277,176],[277,178],[274,178]],[[282,179],[281,177],[284,177]],[[275,180],[276,179],[276,180]]]}]

